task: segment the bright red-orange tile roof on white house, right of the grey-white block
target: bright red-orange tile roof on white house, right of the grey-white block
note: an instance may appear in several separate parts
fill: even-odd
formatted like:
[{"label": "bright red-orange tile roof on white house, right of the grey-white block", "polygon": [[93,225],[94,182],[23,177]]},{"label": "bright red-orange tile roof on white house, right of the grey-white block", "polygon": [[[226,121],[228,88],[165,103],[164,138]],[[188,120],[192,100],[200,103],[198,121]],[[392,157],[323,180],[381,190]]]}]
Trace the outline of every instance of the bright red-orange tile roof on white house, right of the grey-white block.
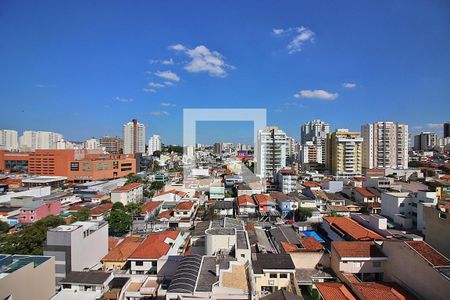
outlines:
[{"label": "bright red-orange tile roof on white house, right of the grey-white block", "polygon": [[130,259],[158,259],[170,250],[170,241],[175,240],[180,231],[170,230],[162,233],[149,234],[136,250],[130,255]]}]

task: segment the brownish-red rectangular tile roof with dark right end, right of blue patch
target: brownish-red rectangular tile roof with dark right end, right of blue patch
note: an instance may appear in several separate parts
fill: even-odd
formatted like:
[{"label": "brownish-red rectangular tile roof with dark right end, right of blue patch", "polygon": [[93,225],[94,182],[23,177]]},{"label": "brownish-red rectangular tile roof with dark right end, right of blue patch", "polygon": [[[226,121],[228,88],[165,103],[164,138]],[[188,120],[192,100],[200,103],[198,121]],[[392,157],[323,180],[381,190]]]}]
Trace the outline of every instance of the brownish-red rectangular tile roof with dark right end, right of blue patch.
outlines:
[{"label": "brownish-red rectangular tile roof with dark right end, right of blue patch", "polygon": [[340,257],[385,257],[373,242],[332,242]]}]

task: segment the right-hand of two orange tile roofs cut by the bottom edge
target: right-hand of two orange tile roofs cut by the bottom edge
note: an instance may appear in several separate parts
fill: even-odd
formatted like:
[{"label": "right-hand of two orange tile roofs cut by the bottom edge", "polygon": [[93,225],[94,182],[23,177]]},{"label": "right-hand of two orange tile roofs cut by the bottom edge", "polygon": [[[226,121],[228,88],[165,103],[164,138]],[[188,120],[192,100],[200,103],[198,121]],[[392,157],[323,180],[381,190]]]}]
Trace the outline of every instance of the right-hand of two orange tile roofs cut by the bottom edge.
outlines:
[{"label": "right-hand of two orange tile roofs cut by the bottom edge", "polygon": [[361,300],[414,300],[414,296],[393,282],[359,282],[352,290]]}]

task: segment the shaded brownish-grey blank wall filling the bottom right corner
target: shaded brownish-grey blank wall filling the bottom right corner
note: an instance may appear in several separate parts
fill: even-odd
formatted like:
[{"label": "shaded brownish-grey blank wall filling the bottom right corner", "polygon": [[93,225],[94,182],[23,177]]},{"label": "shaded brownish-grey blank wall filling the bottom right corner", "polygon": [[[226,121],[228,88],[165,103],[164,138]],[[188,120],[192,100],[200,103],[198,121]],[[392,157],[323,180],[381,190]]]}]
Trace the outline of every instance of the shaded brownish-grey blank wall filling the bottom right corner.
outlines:
[{"label": "shaded brownish-grey blank wall filling the bottom right corner", "polygon": [[421,299],[448,299],[448,279],[404,242],[386,240],[383,252],[388,256],[384,268],[385,281],[395,281]]}]

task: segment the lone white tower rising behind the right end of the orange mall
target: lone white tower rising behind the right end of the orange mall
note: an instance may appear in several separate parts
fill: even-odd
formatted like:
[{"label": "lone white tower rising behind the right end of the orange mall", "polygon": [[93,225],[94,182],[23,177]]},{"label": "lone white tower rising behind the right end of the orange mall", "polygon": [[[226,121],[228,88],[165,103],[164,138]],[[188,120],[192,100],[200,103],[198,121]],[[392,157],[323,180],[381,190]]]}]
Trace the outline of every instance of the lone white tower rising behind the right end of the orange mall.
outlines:
[{"label": "lone white tower rising behind the right end of the orange mall", "polygon": [[124,154],[145,153],[145,125],[136,119],[123,125]]}]

